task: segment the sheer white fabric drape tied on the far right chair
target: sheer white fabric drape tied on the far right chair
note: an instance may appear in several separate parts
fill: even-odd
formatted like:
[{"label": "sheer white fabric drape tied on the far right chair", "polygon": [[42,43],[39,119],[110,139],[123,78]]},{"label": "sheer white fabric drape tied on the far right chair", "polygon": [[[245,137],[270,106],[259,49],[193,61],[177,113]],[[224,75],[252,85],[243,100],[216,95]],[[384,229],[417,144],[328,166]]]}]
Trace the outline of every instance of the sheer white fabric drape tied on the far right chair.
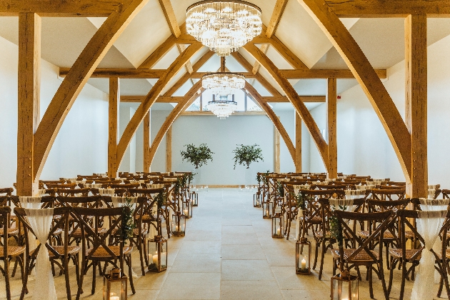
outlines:
[{"label": "sheer white fabric drape tied on the far right chair", "polygon": [[[430,251],[438,238],[444,224],[447,211],[417,211],[417,232],[424,238],[425,248],[422,250],[416,280],[411,293],[411,300],[433,299],[430,287],[434,284],[434,254]],[[440,251],[440,249],[434,249]]]}]

